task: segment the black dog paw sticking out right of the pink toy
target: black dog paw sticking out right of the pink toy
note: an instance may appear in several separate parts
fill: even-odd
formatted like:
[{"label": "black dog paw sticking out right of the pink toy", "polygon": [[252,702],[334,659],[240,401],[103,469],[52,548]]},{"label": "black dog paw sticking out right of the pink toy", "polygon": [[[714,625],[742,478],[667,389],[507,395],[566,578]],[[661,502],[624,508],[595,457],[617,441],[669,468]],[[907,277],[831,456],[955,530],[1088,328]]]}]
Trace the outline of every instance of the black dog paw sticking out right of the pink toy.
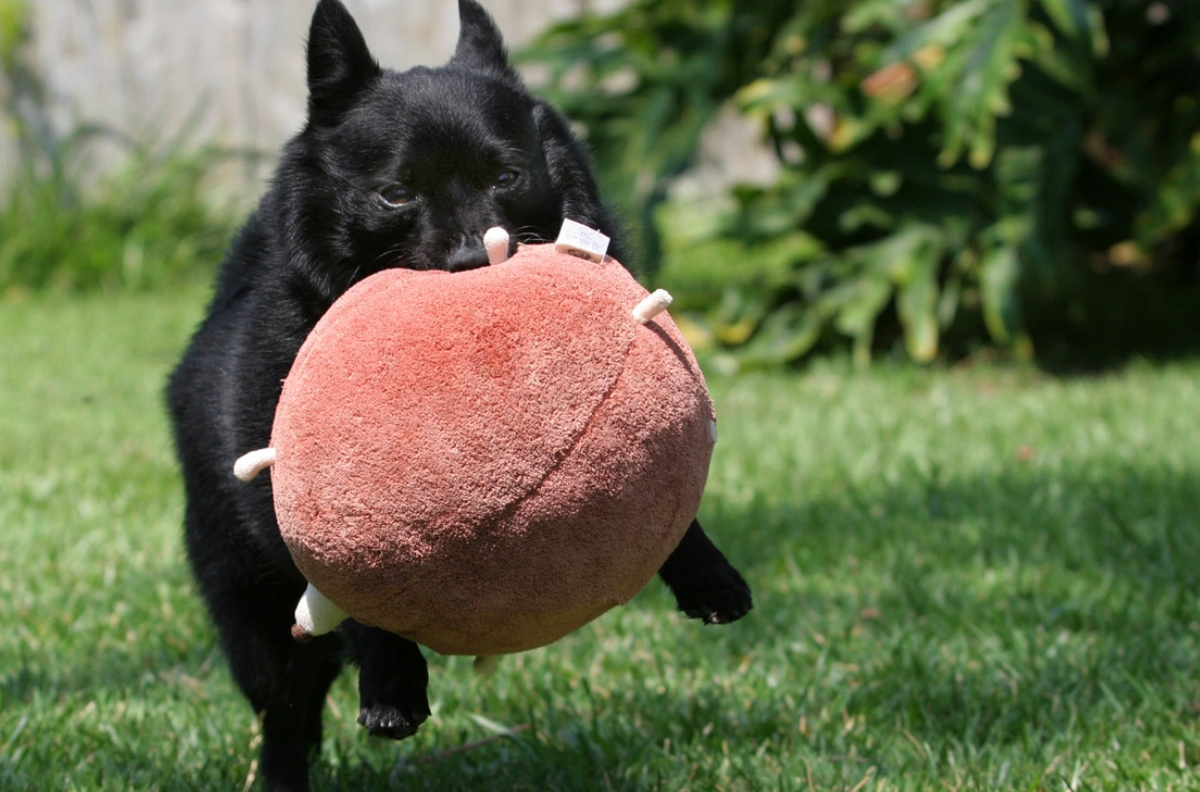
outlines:
[{"label": "black dog paw sticking out right of the pink toy", "polygon": [[704,624],[728,624],[750,612],[750,587],[725,554],[692,520],[659,576],[676,595],[679,610]]}]

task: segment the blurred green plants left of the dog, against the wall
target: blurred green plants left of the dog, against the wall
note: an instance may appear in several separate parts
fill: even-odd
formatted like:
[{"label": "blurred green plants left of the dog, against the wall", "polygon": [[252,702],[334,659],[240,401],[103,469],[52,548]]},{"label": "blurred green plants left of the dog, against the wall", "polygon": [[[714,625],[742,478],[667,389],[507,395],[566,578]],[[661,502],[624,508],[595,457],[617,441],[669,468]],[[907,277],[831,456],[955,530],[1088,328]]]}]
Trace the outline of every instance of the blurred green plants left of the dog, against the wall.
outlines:
[{"label": "blurred green plants left of the dog, against the wall", "polygon": [[[0,188],[0,296],[155,288],[211,271],[233,224],[208,175],[228,155],[88,124],[60,132],[29,56],[30,8],[0,0],[0,121],[17,154]],[[97,166],[97,149],[114,145],[121,164]]]}]

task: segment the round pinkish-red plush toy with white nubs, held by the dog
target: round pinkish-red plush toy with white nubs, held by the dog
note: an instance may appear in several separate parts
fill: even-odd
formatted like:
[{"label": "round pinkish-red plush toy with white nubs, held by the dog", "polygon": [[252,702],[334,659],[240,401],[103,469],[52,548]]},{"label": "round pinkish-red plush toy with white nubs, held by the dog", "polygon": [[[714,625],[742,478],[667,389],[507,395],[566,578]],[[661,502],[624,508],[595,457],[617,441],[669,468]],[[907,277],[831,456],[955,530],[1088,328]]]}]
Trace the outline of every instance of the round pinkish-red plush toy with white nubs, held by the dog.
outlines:
[{"label": "round pinkish-red plush toy with white nubs, held by the dog", "polygon": [[442,654],[545,646],[634,596],[696,516],[716,424],[670,295],[586,241],[485,240],[490,266],[337,300],[271,446],[238,462],[271,467],[310,582],[298,638],[349,616]]}]

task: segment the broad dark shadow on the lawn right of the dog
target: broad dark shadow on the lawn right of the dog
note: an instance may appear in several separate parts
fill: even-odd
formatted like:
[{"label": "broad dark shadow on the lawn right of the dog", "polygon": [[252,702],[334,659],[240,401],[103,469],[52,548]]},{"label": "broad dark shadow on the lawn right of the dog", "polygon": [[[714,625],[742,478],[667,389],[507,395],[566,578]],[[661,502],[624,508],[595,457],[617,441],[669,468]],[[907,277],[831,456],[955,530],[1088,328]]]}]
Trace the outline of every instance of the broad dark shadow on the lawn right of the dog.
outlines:
[{"label": "broad dark shadow on the lawn right of the dog", "polygon": [[1198,481],[1081,461],[714,504],[756,588],[739,641],[791,670],[797,713],[761,712],[834,754],[850,718],[935,752],[1177,732],[1200,713]]}]

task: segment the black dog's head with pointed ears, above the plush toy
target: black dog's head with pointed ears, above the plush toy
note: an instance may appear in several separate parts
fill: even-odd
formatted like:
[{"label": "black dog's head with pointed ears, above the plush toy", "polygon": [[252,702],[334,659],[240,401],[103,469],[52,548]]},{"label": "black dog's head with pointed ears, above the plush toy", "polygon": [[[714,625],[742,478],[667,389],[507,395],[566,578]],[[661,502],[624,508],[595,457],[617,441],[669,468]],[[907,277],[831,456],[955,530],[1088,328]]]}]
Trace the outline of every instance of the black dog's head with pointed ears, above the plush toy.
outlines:
[{"label": "black dog's head with pointed ears, above the plush toy", "polygon": [[293,263],[330,296],[389,266],[484,266],[493,226],[514,246],[552,240],[564,217],[614,235],[565,121],[524,89],[487,12],[458,13],[446,65],[394,72],[338,0],[317,6],[308,121],[275,187]]}]

